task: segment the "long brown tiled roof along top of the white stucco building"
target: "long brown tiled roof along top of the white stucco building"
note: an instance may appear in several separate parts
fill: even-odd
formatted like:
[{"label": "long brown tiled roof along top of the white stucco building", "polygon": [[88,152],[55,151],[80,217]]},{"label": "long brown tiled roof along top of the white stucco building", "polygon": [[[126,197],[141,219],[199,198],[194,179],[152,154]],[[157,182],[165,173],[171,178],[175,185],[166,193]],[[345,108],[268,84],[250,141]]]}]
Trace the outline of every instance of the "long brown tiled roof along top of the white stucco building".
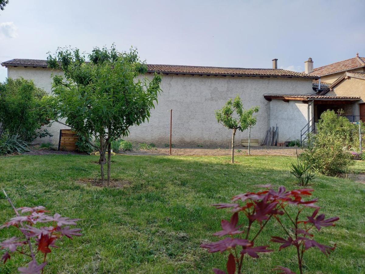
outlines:
[{"label": "long brown tiled roof along top of the white stucco building", "polygon": [[[47,67],[46,60],[12,59],[1,65],[22,65]],[[318,79],[318,76],[284,69],[252,69],[252,68],[222,68],[215,66],[184,66],[184,65],[153,65],[147,64],[148,72],[190,74],[190,75],[222,75],[222,76],[263,76],[263,77],[293,77]]]}]

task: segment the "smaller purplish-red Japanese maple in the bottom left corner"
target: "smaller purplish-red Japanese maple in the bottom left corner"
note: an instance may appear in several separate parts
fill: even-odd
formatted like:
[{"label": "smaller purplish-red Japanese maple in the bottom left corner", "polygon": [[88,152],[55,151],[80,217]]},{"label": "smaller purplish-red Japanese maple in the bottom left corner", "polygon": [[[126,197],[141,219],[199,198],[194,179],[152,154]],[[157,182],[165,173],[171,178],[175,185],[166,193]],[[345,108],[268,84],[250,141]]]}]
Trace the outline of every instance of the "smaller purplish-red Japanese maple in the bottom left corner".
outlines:
[{"label": "smaller purplish-red Japanese maple in the bottom left corner", "polygon": [[[0,242],[0,250],[5,250],[1,260],[5,263],[10,259],[11,254],[14,253],[28,256],[30,263],[27,267],[19,267],[18,271],[20,273],[43,273],[44,267],[47,264],[47,254],[51,252],[50,247],[57,247],[55,245],[56,240],[63,236],[72,239],[72,236],[82,235],[78,233],[81,229],[70,228],[70,225],[76,225],[76,222],[80,219],[61,217],[58,213],[53,216],[47,215],[45,213],[48,211],[43,206],[36,206],[34,208],[21,207],[17,209],[5,191],[4,194],[14,209],[16,217],[11,218],[4,225],[1,225],[0,228],[16,227],[23,234],[23,237],[11,237]],[[21,215],[21,213],[27,213],[27,215]],[[48,226],[34,227],[37,223],[48,223]],[[38,247],[36,248],[34,244]],[[37,262],[39,252],[43,254],[43,262],[40,264]]]}]

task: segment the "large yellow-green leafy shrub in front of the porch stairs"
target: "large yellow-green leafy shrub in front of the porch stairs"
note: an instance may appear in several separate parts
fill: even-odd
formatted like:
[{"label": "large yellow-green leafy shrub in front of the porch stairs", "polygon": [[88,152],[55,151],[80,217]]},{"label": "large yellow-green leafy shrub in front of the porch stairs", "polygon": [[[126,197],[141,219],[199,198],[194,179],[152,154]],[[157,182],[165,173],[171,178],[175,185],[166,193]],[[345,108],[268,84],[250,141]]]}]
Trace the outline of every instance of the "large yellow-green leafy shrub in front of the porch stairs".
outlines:
[{"label": "large yellow-green leafy shrub in front of the porch stairs", "polygon": [[336,175],[353,164],[346,150],[351,142],[353,125],[345,117],[327,110],[317,124],[318,133],[308,134],[301,161],[324,175]]}]

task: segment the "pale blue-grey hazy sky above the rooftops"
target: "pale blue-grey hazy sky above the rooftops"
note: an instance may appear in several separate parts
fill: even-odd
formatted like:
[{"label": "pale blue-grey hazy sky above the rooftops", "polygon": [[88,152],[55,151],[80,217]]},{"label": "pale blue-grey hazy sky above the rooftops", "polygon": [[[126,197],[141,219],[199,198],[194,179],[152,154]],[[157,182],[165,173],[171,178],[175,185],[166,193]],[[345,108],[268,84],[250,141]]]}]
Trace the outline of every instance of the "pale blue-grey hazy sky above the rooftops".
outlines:
[{"label": "pale blue-grey hazy sky above the rooftops", "polygon": [[[365,57],[365,0],[9,0],[0,10],[0,62],[46,59],[57,47],[115,43],[149,64],[304,71]],[[7,77],[0,67],[0,81]]]}]

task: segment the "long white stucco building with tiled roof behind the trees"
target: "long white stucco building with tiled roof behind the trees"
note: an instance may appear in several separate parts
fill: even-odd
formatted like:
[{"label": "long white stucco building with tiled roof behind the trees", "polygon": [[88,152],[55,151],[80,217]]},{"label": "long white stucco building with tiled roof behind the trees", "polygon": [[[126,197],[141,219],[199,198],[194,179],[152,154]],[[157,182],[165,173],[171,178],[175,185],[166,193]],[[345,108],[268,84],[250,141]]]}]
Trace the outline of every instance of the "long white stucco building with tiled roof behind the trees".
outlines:
[{"label": "long white stucco building with tiled roof behind the trees", "polygon": [[[165,144],[170,134],[172,114],[173,143],[178,145],[230,143],[230,130],[216,122],[214,110],[220,109],[228,98],[237,94],[245,108],[259,106],[257,124],[251,129],[251,138],[262,141],[270,126],[278,126],[278,141],[300,138],[301,130],[314,117],[313,102],[342,102],[358,100],[353,96],[324,96],[313,94],[313,74],[277,69],[273,59],[270,69],[222,68],[212,66],[153,65],[149,64],[147,77],[162,73],[162,93],[158,105],[151,111],[149,123],[131,128],[128,140]],[[51,94],[51,75],[62,71],[47,68],[46,60],[13,59],[1,63],[8,69],[8,77],[33,79],[34,83]],[[50,129],[53,141],[58,142],[59,129],[54,123]],[[247,138],[248,132],[236,134],[237,140]],[[38,140],[39,141],[39,140]]]}]

